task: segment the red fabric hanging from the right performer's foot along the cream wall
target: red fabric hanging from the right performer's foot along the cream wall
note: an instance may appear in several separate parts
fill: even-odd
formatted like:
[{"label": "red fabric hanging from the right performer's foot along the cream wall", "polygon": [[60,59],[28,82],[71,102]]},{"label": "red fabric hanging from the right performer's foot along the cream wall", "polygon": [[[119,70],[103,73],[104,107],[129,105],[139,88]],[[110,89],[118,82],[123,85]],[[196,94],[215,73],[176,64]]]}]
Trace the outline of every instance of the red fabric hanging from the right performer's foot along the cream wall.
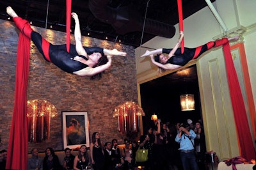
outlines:
[{"label": "red fabric hanging from the right performer's foot along the cream wall", "polygon": [[255,159],[255,149],[253,147],[252,135],[250,133],[250,128],[248,125],[248,119],[244,107],[244,100],[241,93],[241,88],[239,86],[236,69],[232,61],[229,43],[223,45],[223,52],[225,54],[228,86],[230,89],[230,97],[234,111],[241,157],[244,157],[247,160]]}]

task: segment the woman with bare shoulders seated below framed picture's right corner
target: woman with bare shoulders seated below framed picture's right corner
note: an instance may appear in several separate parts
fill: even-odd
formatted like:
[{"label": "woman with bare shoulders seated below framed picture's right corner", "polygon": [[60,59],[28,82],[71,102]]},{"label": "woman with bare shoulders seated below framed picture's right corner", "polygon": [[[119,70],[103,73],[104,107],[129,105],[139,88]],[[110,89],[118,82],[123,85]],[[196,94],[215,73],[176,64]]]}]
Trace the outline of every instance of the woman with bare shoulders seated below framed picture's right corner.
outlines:
[{"label": "woman with bare shoulders seated below framed picture's right corner", "polygon": [[90,168],[89,158],[86,157],[86,145],[81,145],[79,149],[79,153],[74,158],[74,170],[83,170]]}]

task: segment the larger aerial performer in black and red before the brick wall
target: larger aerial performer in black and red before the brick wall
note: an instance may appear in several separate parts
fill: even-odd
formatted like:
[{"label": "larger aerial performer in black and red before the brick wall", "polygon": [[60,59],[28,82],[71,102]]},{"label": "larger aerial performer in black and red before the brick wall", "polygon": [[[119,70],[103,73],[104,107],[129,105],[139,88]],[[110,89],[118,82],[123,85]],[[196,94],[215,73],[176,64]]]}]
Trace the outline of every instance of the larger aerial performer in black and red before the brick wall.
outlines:
[{"label": "larger aerial performer in black and red before the brick wall", "polygon": [[18,29],[35,43],[45,60],[54,63],[54,65],[65,72],[82,77],[88,76],[94,78],[111,66],[112,56],[126,56],[126,52],[116,49],[108,50],[100,47],[83,47],[79,19],[76,13],[71,14],[76,22],[74,32],[76,45],[70,44],[70,52],[67,52],[65,44],[52,45],[42,38],[39,33],[33,31],[28,20],[18,17],[12,7],[8,6],[6,12],[13,18]]}]

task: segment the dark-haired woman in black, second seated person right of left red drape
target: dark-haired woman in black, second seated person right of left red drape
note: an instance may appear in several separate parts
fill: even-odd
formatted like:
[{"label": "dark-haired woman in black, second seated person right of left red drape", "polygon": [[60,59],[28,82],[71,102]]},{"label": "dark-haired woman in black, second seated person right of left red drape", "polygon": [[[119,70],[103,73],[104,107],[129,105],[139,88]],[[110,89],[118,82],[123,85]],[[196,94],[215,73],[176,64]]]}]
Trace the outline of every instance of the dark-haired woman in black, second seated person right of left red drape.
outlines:
[{"label": "dark-haired woman in black, second seated person right of left red drape", "polygon": [[60,161],[57,155],[55,155],[52,148],[46,148],[45,157],[43,162],[44,170],[59,170],[61,169]]}]

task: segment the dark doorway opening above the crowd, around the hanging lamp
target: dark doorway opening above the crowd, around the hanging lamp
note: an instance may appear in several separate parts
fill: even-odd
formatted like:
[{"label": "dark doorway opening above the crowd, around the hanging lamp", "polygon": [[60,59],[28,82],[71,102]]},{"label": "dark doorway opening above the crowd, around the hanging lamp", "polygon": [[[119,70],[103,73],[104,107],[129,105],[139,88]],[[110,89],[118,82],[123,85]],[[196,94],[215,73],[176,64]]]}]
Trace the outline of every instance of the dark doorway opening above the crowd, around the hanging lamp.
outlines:
[{"label": "dark doorway opening above the crowd, around the hanging lamp", "polygon": [[[194,94],[194,111],[181,111],[180,95],[186,93]],[[152,122],[151,115],[154,113],[162,122],[202,120],[196,65],[140,84],[140,95],[141,107],[146,114],[143,116],[143,127]]]}]

